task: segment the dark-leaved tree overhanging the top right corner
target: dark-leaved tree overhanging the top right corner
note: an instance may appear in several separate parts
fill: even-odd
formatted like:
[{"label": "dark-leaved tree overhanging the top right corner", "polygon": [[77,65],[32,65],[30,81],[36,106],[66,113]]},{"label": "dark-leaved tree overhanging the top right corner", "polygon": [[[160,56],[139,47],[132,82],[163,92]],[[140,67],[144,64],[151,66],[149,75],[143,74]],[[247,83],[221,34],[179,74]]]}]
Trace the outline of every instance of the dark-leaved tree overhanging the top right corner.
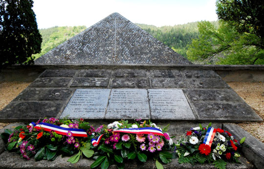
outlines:
[{"label": "dark-leaved tree overhanging the top right corner", "polygon": [[240,33],[255,34],[259,40],[251,45],[264,49],[264,0],[217,0],[216,6],[220,20]]}]

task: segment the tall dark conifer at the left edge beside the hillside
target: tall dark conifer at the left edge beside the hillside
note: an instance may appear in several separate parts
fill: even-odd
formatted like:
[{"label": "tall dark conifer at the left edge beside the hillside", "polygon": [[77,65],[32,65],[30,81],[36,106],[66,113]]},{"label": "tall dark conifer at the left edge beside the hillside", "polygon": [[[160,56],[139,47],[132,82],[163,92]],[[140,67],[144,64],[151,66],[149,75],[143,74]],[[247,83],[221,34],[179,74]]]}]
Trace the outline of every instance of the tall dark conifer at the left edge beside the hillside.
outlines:
[{"label": "tall dark conifer at the left edge beside the hillside", "polygon": [[0,0],[0,66],[30,64],[41,51],[42,37],[33,0]]}]

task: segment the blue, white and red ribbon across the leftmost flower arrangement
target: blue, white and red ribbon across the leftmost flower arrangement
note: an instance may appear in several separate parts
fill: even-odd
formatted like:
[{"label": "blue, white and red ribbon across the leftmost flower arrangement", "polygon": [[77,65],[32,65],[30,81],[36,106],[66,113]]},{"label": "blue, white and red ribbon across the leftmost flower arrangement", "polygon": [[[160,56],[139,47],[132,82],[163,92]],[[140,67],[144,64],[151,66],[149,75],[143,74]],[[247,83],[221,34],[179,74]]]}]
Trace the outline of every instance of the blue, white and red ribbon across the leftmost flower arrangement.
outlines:
[{"label": "blue, white and red ribbon across the leftmost flower arrangement", "polygon": [[39,124],[36,124],[35,122],[31,122],[29,125],[32,127],[39,129],[39,130],[44,130],[44,131],[55,131],[57,134],[61,135],[67,135],[68,131],[72,132],[72,136],[76,137],[88,137],[87,133],[84,129],[77,129],[77,128],[65,128],[61,126],[57,126],[54,124],[50,123],[45,123],[45,122],[40,122]]}]

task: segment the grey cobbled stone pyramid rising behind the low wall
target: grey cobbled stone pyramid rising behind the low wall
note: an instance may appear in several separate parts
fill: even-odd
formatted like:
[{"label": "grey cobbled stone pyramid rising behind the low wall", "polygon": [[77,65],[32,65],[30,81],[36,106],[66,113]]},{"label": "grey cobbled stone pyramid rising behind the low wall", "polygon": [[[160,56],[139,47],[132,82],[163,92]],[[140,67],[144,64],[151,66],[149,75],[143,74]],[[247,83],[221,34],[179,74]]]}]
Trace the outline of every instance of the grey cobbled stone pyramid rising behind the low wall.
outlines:
[{"label": "grey cobbled stone pyramid rising behind the low wall", "polygon": [[145,30],[113,13],[38,58],[36,65],[191,64]]}]

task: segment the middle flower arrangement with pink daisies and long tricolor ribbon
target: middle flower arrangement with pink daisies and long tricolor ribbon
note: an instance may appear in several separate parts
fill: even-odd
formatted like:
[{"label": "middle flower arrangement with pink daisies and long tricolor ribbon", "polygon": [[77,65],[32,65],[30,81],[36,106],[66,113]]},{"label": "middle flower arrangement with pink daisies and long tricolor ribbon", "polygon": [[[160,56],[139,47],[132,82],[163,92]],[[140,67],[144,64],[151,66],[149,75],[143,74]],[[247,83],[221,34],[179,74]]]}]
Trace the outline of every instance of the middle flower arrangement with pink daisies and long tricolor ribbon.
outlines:
[{"label": "middle flower arrangement with pink daisies and long tricolor ribbon", "polygon": [[130,159],[146,162],[147,158],[153,158],[157,169],[163,169],[161,163],[171,162],[173,155],[170,151],[175,147],[167,130],[168,126],[162,130],[151,121],[110,123],[101,132],[95,132],[97,140],[92,140],[96,146],[95,162],[91,168],[101,165],[102,169],[107,169],[115,163],[119,169],[124,169],[125,162]]}]

